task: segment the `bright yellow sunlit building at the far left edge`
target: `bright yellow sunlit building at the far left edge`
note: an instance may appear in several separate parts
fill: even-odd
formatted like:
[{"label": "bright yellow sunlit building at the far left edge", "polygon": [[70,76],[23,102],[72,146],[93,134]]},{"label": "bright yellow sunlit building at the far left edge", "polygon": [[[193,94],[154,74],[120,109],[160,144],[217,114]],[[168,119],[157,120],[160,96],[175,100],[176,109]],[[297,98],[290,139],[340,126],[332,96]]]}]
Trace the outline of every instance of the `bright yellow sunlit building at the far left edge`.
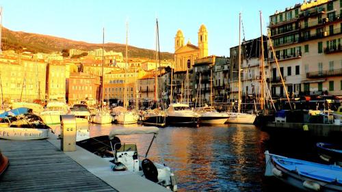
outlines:
[{"label": "bright yellow sunlit building at the far left edge", "polygon": [[42,59],[1,55],[0,83],[4,102],[45,99],[47,64]]}]

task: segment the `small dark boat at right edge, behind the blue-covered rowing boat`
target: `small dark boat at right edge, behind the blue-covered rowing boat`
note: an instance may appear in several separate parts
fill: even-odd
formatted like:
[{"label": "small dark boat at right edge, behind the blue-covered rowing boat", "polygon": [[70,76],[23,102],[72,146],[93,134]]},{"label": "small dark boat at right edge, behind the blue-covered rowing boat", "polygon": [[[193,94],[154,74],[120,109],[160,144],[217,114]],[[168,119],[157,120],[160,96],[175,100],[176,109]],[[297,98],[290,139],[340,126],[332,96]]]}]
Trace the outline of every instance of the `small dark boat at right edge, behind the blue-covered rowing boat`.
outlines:
[{"label": "small dark boat at right edge, behind the blue-covered rowing boat", "polygon": [[316,143],[319,158],[324,161],[342,166],[342,146],[332,143]]}]

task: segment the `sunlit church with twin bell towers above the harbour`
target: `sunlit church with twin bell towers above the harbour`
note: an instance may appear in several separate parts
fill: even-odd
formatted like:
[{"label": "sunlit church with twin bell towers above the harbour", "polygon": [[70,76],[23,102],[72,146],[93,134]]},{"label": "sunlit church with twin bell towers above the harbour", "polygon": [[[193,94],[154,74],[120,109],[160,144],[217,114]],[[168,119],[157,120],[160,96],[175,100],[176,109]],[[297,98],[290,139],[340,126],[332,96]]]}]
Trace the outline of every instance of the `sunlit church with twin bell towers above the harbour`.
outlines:
[{"label": "sunlit church with twin bell towers above the harbour", "polygon": [[205,25],[198,30],[198,46],[190,41],[184,44],[184,36],[178,30],[174,38],[174,71],[186,71],[194,66],[194,61],[208,56],[208,31]]}]

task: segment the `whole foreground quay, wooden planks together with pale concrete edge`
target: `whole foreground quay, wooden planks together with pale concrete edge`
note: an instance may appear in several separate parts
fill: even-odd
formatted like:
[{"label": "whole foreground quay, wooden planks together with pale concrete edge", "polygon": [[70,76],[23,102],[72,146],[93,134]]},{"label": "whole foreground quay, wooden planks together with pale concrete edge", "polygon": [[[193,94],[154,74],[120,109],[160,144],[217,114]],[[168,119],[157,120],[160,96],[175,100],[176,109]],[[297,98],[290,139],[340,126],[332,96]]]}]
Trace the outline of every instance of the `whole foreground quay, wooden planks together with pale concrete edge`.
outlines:
[{"label": "whole foreground quay, wooden planks together with pale concrete edge", "polygon": [[10,160],[0,191],[167,191],[135,174],[114,173],[82,148],[63,152],[52,133],[47,140],[1,140],[0,149]]}]

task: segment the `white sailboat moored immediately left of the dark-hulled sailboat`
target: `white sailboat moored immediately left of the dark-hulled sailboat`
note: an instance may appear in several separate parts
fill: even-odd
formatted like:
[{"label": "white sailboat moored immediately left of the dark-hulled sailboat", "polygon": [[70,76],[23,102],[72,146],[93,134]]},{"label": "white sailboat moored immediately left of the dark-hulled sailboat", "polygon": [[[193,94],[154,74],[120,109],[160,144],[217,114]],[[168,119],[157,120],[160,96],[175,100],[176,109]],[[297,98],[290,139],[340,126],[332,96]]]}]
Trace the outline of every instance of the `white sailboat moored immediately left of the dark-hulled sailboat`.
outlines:
[{"label": "white sailboat moored immediately left of the dark-hulled sailboat", "polygon": [[[135,111],[127,111],[127,67],[128,67],[128,23],[126,23],[126,64],[124,66],[124,109],[116,117],[119,124],[136,124],[139,115]],[[136,101],[137,102],[137,101]]]}]

